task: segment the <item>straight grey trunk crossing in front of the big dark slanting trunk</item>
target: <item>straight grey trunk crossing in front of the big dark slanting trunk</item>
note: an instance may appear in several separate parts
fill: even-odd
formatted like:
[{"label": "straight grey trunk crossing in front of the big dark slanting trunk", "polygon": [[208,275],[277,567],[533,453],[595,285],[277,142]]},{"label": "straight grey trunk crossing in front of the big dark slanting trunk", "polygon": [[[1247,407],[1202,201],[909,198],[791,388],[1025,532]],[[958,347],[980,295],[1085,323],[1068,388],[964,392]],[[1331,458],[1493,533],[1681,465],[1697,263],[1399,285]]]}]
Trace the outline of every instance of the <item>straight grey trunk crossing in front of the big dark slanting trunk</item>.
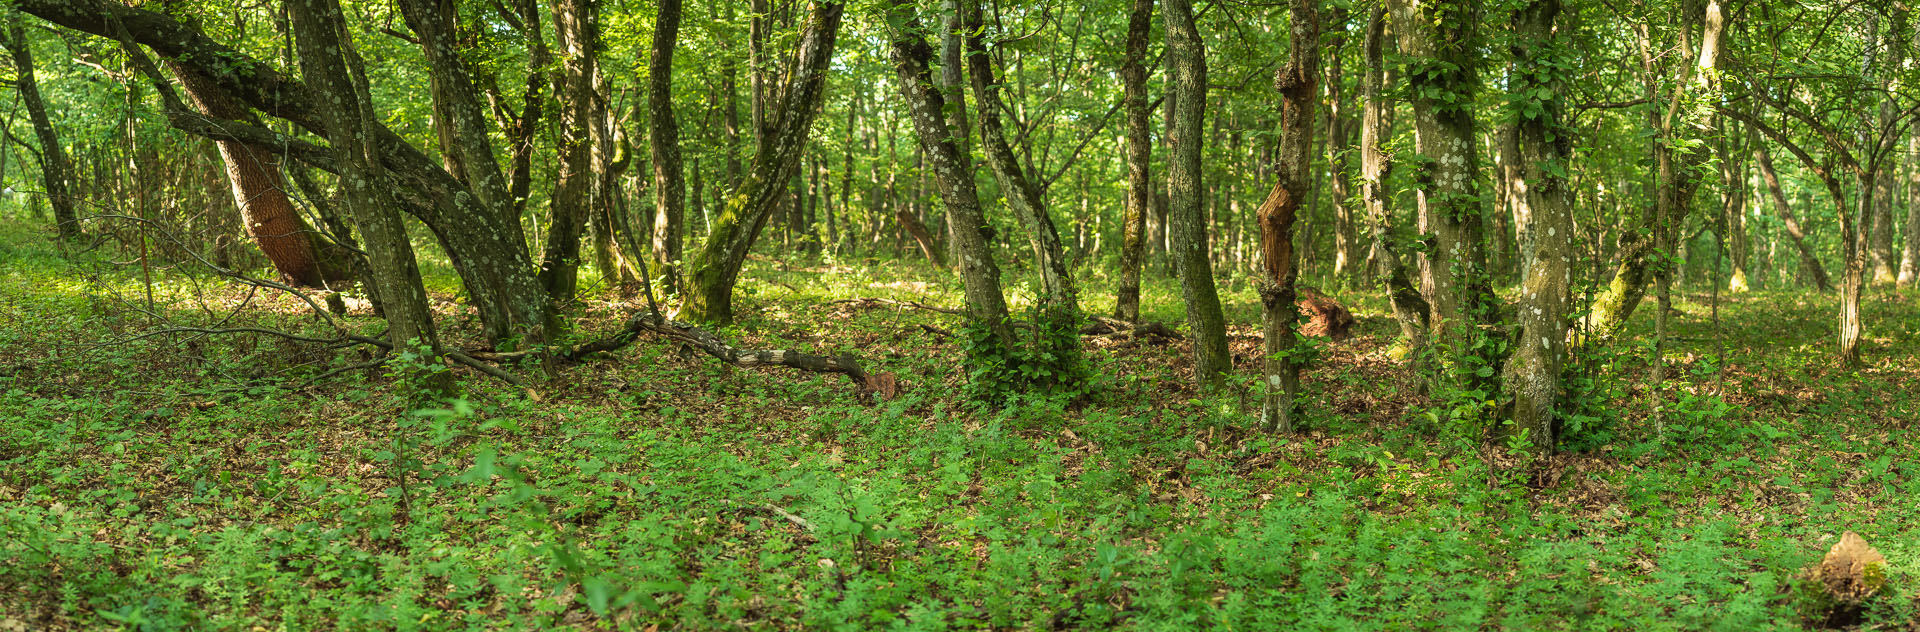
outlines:
[{"label": "straight grey trunk crossing in front of the big dark slanting trunk", "polygon": [[334,131],[332,154],[340,167],[344,200],[361,227],[374,288],[386,311],[388,342],[394,352],[424,348],[430,359],[440,348],[434,315],[426,307],[426,288],[413,259],[407,225],[399,219],[392,182],[380,165],[380,150],[374,148],[378,134],[374,134],[367,73],[340,15],[340,4],[288,0],[286,10],[300,48],[301,75],[321,94],[334,96],[336,106],[323,108],[321,117],[326,129]]}]

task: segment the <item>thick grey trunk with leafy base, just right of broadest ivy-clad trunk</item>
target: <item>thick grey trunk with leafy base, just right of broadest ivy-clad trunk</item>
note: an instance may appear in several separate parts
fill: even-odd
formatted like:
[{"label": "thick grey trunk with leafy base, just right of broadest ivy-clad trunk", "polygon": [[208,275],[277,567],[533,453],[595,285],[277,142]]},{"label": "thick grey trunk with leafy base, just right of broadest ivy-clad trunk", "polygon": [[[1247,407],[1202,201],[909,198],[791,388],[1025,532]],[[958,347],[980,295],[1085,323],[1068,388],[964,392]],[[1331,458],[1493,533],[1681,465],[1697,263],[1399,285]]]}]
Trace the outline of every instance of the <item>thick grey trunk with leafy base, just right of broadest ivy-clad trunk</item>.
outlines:
[{"label": "thick grey trunk with leafy base, just right of broadest ivy-clad trunk", "polygon": [[[1513,398],[1513,432],[1530,440],[1536,451],[1553,453],[1553,409],[1561,398],[1561,367],[1567,363],[1567,330],[1572,315],[1572,192],[1567,163],[1572,138],[1561,121],[1567,90],[1565,71],[1555,65],[1563,35],[1555,31],[1561,0],[1534,0],[1515,13],[1509,94],[1523,113],[1515,133],[1513,204],[1515,225],[1524,225],[1521,242],[1519,327],[1513,355],[1501,375]],[[1549,94],[1540,96],[1540,90]]]}]

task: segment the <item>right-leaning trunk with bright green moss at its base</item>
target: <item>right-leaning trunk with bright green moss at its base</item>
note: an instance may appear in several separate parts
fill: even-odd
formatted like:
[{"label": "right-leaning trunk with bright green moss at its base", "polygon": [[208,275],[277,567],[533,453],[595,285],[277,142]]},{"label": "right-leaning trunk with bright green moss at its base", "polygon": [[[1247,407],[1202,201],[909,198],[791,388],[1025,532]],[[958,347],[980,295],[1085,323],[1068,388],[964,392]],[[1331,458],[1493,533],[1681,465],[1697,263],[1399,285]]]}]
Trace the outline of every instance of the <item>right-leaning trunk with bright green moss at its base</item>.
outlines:
[{"label": "right-leaning trunk with bright green moss at its base", "polygon": [[787,182],[801,165],[808,133],[826,102],[828,67],[847,6],[814,2],[806,29],[801,33],[791,81],[781,90],[785,98],[768,111],[772,133],[753,158],[747,175],[726,207],[712,219],[712,232],[687,265],[680,317],[695,323],[733,323],[733,282],[747,252],[766,225],[768,215],[787,198]]}]

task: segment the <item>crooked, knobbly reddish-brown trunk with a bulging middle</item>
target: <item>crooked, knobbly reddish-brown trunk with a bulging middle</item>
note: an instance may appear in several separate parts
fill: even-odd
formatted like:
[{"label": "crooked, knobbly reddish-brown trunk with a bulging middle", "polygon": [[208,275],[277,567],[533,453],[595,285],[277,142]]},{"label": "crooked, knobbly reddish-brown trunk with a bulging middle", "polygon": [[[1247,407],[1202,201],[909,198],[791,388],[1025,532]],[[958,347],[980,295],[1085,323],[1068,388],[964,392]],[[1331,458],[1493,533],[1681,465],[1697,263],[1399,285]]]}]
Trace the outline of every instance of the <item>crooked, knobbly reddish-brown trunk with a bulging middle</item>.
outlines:
[{"label": "crooked, knobbly reddish-brown trunk with a bulging middle", "polygon": [[[1300,309],[1294,282],[1294,219],[1300,202],[1309,196],[1313,169],[1313,115],[1319,98],[1319,4],[1294,0],[1292,36],[1286,67],[1273,77],[1281,92],[1281,150],[1273,192],[1260,204],[1260,255],[1265,265],[1260,279],[1261,352],[1265,352],[1265,398],[1260,423],[1271,432],[1294,432],[1294,396],[1300,392],[1300,361],[1294,328]],[[1338,60],[1334,60],[1338,63]]]}]

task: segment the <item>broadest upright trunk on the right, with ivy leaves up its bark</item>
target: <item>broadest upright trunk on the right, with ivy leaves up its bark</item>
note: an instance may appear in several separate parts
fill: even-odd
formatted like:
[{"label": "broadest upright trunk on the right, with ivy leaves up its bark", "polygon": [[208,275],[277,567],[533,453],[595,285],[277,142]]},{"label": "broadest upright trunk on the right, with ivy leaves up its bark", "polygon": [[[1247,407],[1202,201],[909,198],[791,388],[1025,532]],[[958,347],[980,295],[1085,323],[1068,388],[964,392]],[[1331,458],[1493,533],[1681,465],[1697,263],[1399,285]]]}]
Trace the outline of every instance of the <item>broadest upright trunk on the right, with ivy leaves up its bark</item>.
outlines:
[{"label": "broadest upright trunk on the right, with ivy leaves up its bark", "polygon": [[[1476,0],[1392,0],[1400,54],[1407,56],[1413,146],[1421,158],[1415,202],[1434,238],[1428,325],[1463,342],[1496,319],[1480,217],[1480,152],[1473,115],[1478,86]],[[1463,346],[1459,350],[1465,350]]]}]

